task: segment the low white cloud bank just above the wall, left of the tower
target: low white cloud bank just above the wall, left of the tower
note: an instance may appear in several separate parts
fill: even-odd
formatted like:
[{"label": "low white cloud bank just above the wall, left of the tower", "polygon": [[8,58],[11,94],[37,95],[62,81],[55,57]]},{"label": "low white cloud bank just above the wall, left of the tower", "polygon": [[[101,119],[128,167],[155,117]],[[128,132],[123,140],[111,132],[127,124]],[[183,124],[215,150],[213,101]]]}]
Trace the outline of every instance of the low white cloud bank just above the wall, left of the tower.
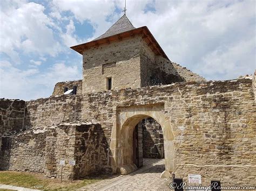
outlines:
[{"label": "low white cloud bank just above the wall, left of the tower", "polygon": [[81,79],[82,70],[55,63],[45,72],[39,72],[38,69],[21,70],[9,61],[0,61],[0,74],[0,98],[30,100],[49,97],[57,82]]}]

